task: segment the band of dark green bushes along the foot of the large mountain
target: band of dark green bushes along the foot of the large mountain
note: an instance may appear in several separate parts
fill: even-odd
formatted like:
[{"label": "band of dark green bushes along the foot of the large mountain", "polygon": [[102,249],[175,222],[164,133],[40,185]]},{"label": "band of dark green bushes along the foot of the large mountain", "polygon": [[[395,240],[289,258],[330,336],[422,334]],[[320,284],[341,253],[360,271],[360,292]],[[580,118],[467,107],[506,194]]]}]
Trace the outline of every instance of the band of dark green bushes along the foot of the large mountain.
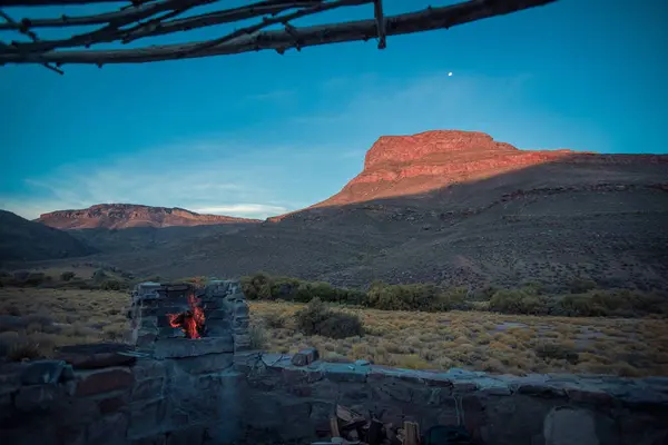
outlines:
[{"label": "band of dark green bushes along the foot of the large mountain", "polygon": [[491,310],[569,317],[668,316],[668,296],[629,289],[598,289],[595,281],[587,279],[574,280],[569,287],[570,294],[549,294],[540,283],[524,283],[511,289],[485,286],[473,290],[434,284],[374,281],[369,290],[362,291],[262,273],[243,277],[242,285],[248,299],[308,303],[317,298],[382,310]]}]

